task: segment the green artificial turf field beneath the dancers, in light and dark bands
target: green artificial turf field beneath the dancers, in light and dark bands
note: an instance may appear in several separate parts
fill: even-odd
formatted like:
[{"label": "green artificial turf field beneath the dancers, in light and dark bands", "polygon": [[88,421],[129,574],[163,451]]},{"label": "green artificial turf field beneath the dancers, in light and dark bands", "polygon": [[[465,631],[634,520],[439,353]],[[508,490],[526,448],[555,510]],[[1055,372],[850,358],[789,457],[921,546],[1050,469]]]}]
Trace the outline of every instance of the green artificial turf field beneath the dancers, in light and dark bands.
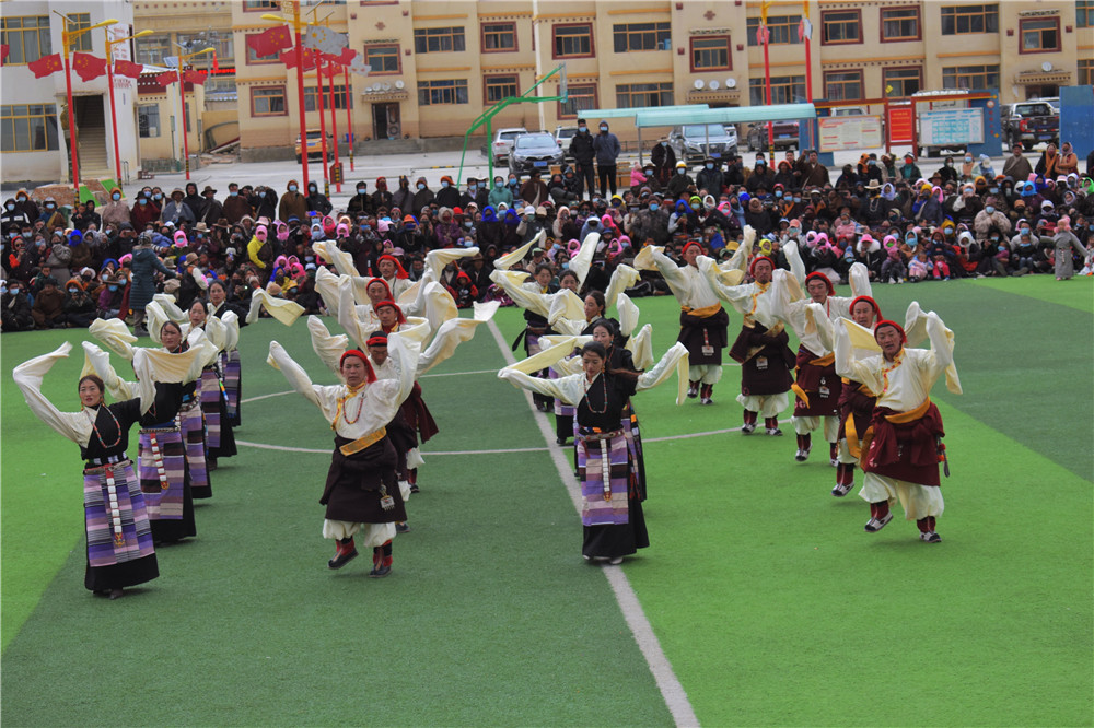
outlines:
[{"label": "green artificial turf field beneath the dancers, in light and dark bands", "polygon": [[[782,438],[659,439],[737,427],[736,367],[714,407],[676,407],[674,384],[642,392],[652,545],[624,571],[662,648],[705,725],[1090,725],[1090,279],[874,295],[898,321],[918,298],[956,332],[965,395],[932,392],[953,470],[943,543],[919,542],[899,509],[864,533],[865,503],[829,495],[819,437],[793,461],[789,424]],[[676,303],[637,303],[660,354]],[[514,309],[496,320],[507,341],[523,326]],[[737,326],[731,313],[731,336]],[[429,455],[547,446],[534,418],[554,430],[550,416],[492,374],[422,379],[441,434],[422,448],[414,530],[386,580],[364,578],[368,554],[325,568],[331,435],[289,395],[244,404],[238,439],[322,451],[241,446],[213,473],[198,538],[161,550],[160,579],[118,602],[90,596],[77,448],[30,415],[10,377],[79,333],[2,339],[3,720],[671,723],[606,580],[580,560],[548,453]],[[242,337],[245,398],[288,389],[264,363],[271,338],[330,380],[302,322],[260,321]],[[502,362],[480,329],[437,373]],[[79,367],[73,355],[47,378],[55,402]]]}]

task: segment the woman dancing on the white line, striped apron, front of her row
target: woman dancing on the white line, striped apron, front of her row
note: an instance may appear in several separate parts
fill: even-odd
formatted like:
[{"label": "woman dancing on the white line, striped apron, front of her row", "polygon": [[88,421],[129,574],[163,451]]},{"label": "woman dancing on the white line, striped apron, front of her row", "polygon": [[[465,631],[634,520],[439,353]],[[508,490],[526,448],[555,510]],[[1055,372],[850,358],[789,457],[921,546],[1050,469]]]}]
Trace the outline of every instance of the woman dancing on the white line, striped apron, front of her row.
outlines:
[{"label": "woman dancing on the white line, striped apron, front of her row", "polygon": [[673,344],[656,366],[645,374],[615,371],[607,366],[603,344],[586,343],[581,349],[582,372],[560,379],[528,376],[523,369],[543,366],[544,361],[561,359],[571,342],[552,347],[540,361],[519,362],[498,373],[502,379],[523,389],[538,391],[570,402],[578,412],[578,477],[581,481],[583,526],[582,555],[586,561],[622,563],[624,556],[650,544],[642,516],[642,503],[630,473],[635,463],[622,428],[624,408],[638,391],[664,381],[676,368],[680,378],[677,403],[684,399],[683,379],[687,376],[687,348]]}]

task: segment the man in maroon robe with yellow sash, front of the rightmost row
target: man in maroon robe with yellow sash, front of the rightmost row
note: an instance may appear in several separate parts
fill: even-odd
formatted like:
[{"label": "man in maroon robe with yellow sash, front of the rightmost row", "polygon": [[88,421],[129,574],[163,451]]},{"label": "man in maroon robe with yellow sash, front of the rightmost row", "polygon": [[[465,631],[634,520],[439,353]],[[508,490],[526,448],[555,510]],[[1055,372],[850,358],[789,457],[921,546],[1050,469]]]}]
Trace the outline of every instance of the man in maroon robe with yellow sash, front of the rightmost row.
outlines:
[{"label": "man in maroon robe with yellow sash, front of the rightmost row", "polygon": [[939,543],[942,538],[935,519],[945,507],[939,462],[945,459],[945,433],[930,391],[943,373],[951,391],[961,394],[961,384],[953,368],[953,333],[942,319],[934,313],[919,316],[915,304],[909,319],[930,339],[930,350],[907,347],[905,329],[883,320],[874,327],[881,354],[864,360],[854,359],[847,322],[838,319],[834,325],[836,371],[877,394],[870,427],[862,437],[865,474],[859,495],[870,504],[865,530],[876,533],[893,520],[889,508],[899,498],[905,518],[919,527],[919,538]]}]

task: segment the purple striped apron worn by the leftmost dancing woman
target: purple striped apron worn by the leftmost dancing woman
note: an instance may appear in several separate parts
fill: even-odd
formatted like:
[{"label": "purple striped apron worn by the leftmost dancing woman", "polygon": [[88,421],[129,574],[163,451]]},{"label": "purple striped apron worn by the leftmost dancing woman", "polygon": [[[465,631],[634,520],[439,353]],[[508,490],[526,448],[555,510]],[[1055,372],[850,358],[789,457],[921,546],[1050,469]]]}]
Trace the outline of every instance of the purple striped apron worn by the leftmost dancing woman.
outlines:
[{"label": "purple striped apron worn by the leftmost dancing woman", "polygon": [[114,566],[155,553],[152,530],[131,463],[83,475],[83,513],[88,528],[88,563]]}]

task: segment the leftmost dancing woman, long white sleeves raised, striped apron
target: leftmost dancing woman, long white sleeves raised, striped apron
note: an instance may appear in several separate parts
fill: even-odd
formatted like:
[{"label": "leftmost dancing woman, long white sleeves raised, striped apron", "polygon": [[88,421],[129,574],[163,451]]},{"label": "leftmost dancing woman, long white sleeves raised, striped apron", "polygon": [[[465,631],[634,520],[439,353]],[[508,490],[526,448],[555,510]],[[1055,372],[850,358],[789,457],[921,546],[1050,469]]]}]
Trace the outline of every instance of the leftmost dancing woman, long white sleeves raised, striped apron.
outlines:
[{"label": "leftmost dancing woman, long white sleeves raised, striped apron", "polygon": [[154,379],[147,352],[138,350],[133,357],[139,385],[136,398],[106,404],[103,380],[89,374],[79,383],[80,411],[61,412],[42,394],[42,383],[71,349],[72,344],[66,342],[53,353],[20,364],[13,376],[31,411],[54,432],[80,446],[80,457],[85,461],[83,509],[88,536],[83,583],[96,595],[117,599],[126,587],[160,575],[144,495],[126,455],[130,428],[155,399]]}]

